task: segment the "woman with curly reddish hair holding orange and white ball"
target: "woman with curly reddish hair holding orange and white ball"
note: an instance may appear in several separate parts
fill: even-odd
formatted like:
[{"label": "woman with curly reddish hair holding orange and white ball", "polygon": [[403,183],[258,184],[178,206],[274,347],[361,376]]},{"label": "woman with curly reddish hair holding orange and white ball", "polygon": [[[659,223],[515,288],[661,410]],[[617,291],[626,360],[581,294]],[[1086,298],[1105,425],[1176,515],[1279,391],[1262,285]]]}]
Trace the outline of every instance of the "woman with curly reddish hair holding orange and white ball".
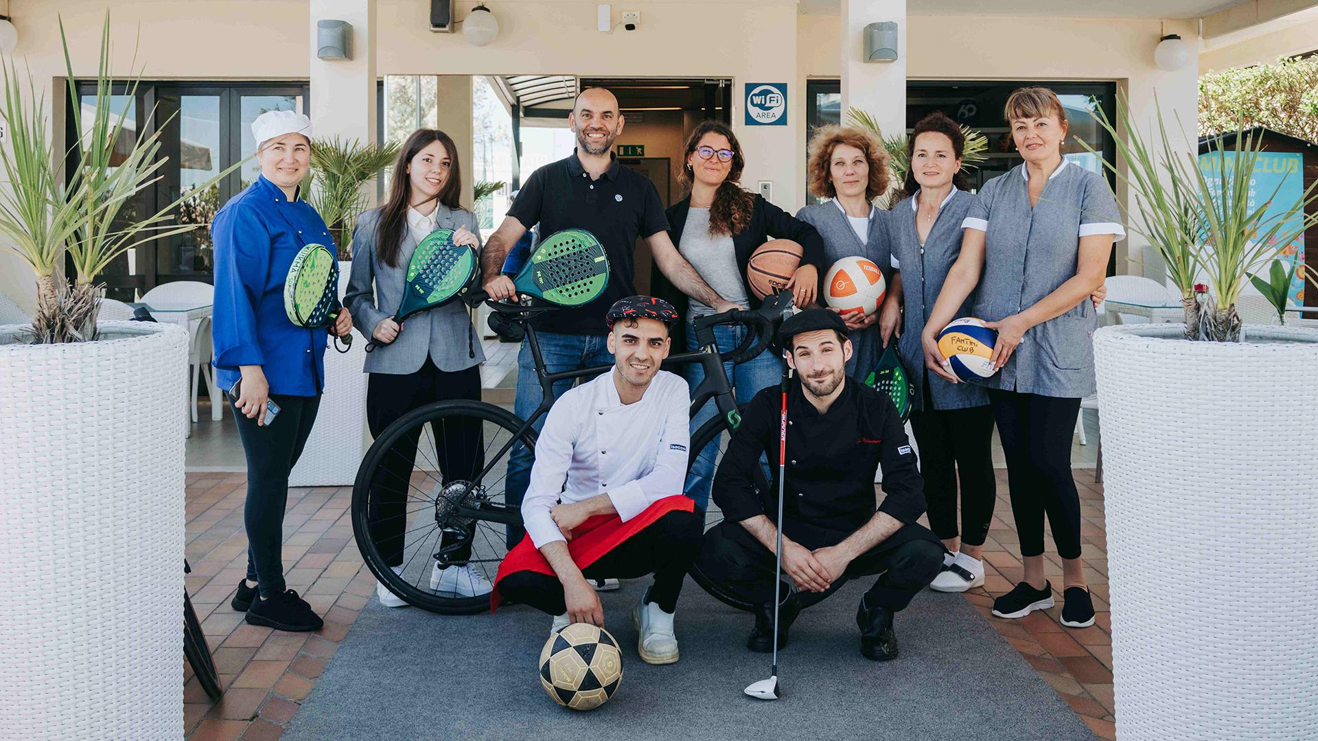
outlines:
[{"label": "woman with curly reddish hair holding orange and white ball", "polygon": [[[807,170],[811,193],[829,199],[796,214],[824,237],[821,276],[844,257],[867,257],[883,272],[888,295],[899,291],[900,278],[892,272],[883,224],[888,214],[871,204],[888,190],[888,153],[883,145],[861,129],[820,127],[811,140]],[[824,303],[822,297],[820,303]],[[851,340],[846,374],[863,381],[874,370],[900,322],[899,305],[884,302],[879,311],[869,316],[847,314],[842,319]]]}]

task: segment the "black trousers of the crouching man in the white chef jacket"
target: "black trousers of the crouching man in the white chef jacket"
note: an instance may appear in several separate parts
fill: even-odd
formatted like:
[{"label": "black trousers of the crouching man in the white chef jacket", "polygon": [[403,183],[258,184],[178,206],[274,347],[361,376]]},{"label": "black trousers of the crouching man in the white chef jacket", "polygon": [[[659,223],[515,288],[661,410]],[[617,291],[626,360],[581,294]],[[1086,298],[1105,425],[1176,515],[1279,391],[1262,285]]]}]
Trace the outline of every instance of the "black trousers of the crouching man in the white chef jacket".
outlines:
[{"label": "black trousers of the crouching man in the white chef jacket", "polygon": [[[637,579],[654,574],[650,601],[671,613],[677,609],[681,581],[700,550],[701,525],[702,519],[693,513],[670,512],[583,568],[581,574],[587,579]],[[503,575],[498,587],[505,600],[531,605],[548,614],[568,610],[558,576],[514,571]]]}]

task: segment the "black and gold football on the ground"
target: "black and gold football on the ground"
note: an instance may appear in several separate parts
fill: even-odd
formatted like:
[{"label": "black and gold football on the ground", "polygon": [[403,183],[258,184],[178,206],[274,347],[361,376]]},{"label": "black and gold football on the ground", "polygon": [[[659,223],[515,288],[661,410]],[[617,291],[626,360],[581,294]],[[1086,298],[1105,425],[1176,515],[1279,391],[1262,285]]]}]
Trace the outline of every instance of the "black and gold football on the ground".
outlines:
[{"label": "black and gold football on the ground", "polygon": [[573,622],[551,636],[540,649],[540,684],[565,708],[598,708],[621,683],[622,651],[602,628]]}]

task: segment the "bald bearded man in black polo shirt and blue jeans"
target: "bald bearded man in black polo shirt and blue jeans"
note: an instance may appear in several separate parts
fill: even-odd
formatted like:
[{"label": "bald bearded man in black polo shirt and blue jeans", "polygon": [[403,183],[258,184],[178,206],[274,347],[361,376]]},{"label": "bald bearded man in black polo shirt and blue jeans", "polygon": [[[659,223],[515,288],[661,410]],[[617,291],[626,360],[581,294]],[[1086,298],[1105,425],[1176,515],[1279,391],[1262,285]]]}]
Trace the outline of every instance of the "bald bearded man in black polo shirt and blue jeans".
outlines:
[{"label": "bald bearded man in black polo shirt and blue jeans", "polygon": [[[513,281],[500,269],[509,248],[535,224],[540,224],[540,239],[561,229],[579,228],[593,233],[604,244],[610,269],[604,294],[585,306],[550,311],[535,319],[540,353],[550,373],[613,364],[604,315],[616,301],[637,293],[633,252],[638,236],[650,245],[659,270],[683,293],[716,311],[737,307],[714,293],[673,247],[654,183],[619,165],[610,152],[623,125],[617,98],[602,87],[583,91],[568,115],[568,124],[576,134],[576,150],[571,157],[531,173],[503,223],[481,251],[485,291],[492,298],[509,299],[514,295]],[[526,341],[517,356],[517,373],[514,410],[525,419],[542,398],[535,361]],[[568,386],[569,381],[556,384],[555,397]],[[543,418],[536,422],[536,430],[540,422]],[[505,485],[509,504],[522,502],[530,483],[531,461],[532,455],[526,446],[518,443],[513,447]],[[509,526],[507,546],[517,545],[523,534],[521,527]]]}]

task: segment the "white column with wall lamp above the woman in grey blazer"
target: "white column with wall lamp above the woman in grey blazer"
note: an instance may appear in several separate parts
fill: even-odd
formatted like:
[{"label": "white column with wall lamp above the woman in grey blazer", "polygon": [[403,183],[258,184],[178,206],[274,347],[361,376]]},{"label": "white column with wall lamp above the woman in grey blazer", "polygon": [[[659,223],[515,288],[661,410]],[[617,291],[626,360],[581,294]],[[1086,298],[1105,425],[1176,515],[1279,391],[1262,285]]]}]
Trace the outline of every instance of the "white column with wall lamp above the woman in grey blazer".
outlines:
[{"label": "white column with wall lamp above the woman in grey blazer", "polygon": [[[376,141],[376,0],[311,0],[311,125],[316,138]],[[352,58],[316,58],[316,21],[352,24]]]}]

